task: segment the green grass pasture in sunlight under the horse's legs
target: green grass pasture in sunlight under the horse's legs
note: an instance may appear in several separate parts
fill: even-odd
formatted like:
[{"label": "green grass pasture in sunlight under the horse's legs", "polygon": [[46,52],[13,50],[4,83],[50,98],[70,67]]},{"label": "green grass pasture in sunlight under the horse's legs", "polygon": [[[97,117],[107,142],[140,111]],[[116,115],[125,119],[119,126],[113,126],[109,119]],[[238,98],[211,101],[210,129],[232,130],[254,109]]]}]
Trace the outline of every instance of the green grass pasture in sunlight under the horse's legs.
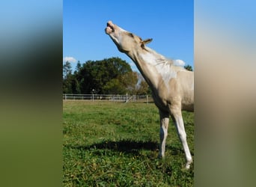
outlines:
[{"label": "green grass pasture in sunlight under the horse's legs", "polygon": [[[194,113],[183,112],[194,156]],[[165,159],[153,103],[63,102],[63,186],[193,186],[170,120]]]}]

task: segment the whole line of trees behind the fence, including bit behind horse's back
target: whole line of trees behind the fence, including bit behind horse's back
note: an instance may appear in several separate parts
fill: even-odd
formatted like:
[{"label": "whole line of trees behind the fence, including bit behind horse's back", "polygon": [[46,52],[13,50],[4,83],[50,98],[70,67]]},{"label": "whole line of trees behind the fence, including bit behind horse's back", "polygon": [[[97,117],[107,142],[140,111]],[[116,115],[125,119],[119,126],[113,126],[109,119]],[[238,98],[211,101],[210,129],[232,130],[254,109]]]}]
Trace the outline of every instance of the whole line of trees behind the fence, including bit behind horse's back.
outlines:
[{"label": "whole line of trees behind the fence, including bit behind horse's back", "polygon": [[[192,70],[186,65],[187,70]],[[63,93],[73,94],[150,94],[150,88],[140,73],[132,72],[127,61],[106,58],[76,64],[72,72],[69,61],[63,65]]]}]

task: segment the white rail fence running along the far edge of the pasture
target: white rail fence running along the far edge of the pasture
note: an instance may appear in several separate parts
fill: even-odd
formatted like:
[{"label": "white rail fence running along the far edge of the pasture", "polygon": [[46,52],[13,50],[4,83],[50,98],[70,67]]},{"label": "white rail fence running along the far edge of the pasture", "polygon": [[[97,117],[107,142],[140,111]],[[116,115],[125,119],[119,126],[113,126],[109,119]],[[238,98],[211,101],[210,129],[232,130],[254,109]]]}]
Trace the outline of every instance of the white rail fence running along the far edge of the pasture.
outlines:
[{"label": "white rail fence running along the far edge of the pasture", "polygon": [[63,94],[64,100],[111,101],[111,102],[152,102],[152,96],[144,95],[103,95],[103,94]]}]

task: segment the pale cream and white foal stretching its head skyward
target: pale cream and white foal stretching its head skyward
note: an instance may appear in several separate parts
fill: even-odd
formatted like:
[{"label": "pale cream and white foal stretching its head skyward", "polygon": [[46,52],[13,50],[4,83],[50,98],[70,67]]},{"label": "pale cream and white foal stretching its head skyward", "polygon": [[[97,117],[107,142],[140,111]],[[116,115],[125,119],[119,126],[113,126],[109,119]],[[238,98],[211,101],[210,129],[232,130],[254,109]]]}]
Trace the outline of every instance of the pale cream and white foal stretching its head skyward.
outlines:
[{"label": "pale cream and white foal stretching its head skyward", "polygon": [[127,54],[136,64],[152,90],[160,116],[159,157],[165,156],[165,140],[171,115],[186,154],[186,168],[189,169],[192,156],[186,141],[181,111],[194,111],[194,73],[175,66],[174,60],[167,59],[145,46],[152,39],[141,40],[141,37],[125,31],[111,21],[107,23],[105,31],[118,50]]}]

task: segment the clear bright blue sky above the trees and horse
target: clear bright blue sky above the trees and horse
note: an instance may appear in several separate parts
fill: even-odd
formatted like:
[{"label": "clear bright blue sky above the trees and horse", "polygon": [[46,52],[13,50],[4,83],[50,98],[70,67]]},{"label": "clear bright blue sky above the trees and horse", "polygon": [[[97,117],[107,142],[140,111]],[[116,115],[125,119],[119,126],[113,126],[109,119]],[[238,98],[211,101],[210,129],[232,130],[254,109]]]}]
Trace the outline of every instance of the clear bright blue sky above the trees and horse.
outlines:
[{"label": "clear bright blue sky above the trees and horse", "polygon": [[77,61],[120,57],[137,70],[105,34],[106,22],[112,20],[142,39],[153,38],[147,46],[156,52],[194,67],[193,15],[193,1],[64,0],[63,57],[74,59],[73,67]]}]

